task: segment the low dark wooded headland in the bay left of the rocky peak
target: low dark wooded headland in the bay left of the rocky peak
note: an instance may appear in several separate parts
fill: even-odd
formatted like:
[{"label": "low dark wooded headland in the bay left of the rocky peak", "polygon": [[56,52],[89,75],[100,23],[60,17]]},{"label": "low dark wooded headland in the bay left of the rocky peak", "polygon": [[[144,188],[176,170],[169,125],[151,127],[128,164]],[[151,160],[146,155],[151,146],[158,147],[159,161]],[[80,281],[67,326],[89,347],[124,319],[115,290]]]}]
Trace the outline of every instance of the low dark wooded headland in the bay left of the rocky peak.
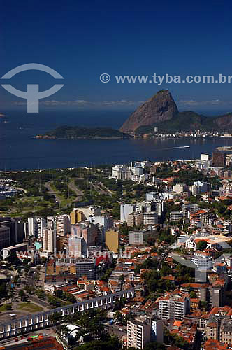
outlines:
[{"label": "low dark wooded headland in the bay left of the rocky peak", "polygon": [[61,126],[36,139],[129,139],[131,136],[110,127],[71,127]]}]

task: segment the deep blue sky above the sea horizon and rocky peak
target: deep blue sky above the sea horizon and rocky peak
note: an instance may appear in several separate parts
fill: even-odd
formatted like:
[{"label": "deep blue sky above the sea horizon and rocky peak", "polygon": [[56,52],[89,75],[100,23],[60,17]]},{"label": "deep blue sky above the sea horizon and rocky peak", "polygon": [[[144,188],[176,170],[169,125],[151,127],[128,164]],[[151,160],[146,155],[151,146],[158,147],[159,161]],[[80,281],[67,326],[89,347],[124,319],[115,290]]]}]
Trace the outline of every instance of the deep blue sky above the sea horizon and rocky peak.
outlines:
[{"label": "deep blue sky above the sea horizon and rocky peak", "polygon": [[[228,0],[1,0],[0,76],[27,63],[55,69],[64,81],[41,71],[10,80],[24,91],[30,83],[40,91],[64,83],[41,99],[45,108],[133,109],[169,89],[182,110],[229,112],[232,80],[122,84],[115,75],[232,76],[231,7]],[[102,73],[110,74],[109,83],[101,83]],[[0,87],[0,112],[25,103]]]}]

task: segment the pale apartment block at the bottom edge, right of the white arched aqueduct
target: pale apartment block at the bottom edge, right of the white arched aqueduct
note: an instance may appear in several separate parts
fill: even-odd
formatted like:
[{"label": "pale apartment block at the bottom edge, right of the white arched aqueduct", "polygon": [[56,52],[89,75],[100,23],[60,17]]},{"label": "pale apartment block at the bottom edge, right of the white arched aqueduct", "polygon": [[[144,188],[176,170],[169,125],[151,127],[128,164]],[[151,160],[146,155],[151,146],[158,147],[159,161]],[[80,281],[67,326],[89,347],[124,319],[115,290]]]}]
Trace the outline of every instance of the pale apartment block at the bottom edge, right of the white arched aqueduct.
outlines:
[{"label": "pale apartment block at the bottom edge, right of the white arched aqueduct", "polygon": [[127,321],[127,347],[144,349],[151,339],[151,325],[147,318],[138,317]]}]

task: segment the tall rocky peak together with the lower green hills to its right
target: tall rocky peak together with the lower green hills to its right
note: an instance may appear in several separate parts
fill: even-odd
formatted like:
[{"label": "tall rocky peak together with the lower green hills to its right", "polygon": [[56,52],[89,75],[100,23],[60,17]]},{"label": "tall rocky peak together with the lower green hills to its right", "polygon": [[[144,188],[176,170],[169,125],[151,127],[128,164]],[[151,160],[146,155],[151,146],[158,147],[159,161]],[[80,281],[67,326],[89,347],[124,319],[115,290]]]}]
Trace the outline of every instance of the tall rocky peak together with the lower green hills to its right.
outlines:
[{"label": "tall rocky peak together with the lower green hills to its right", "polygon": [[232,113],[218,117],[207,117],[193,111],[179,112],[168,90],[160,90],[138,107],[120,127],[129,134],[154,134],[159,132],[219,131],[232,132]]}]

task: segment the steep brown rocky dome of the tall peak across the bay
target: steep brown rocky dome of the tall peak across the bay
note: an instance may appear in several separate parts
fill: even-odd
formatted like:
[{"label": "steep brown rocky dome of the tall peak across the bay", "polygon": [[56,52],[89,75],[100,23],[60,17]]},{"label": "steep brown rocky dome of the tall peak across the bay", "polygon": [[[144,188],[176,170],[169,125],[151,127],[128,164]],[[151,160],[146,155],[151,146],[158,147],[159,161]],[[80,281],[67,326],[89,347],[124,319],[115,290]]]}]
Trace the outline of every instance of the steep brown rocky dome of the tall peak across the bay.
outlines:
[{"label": "steep brown rocky dome of the tall peak across the bay", "polygon": [[120,127],[121,132],[134,132],[138,127],[155,125],[175,118],[178,113],[175,101],[168,90],[157,92],[138,107]]}]

